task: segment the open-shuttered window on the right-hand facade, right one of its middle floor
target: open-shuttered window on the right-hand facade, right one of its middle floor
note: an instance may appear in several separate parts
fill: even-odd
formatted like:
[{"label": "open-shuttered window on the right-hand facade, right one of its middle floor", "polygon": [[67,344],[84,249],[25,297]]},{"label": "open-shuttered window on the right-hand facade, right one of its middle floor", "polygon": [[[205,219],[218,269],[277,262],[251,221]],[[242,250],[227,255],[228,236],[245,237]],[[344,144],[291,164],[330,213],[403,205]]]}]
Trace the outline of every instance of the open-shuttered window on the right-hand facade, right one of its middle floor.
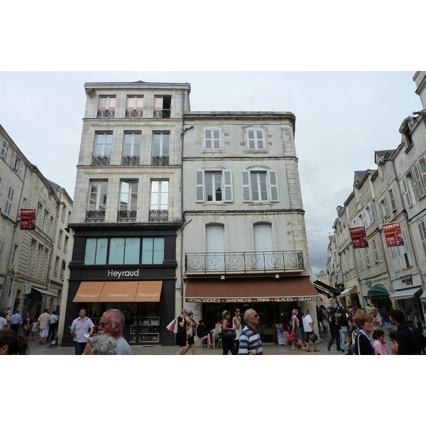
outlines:
[{"label": "open-shuttered window on the right-hand facade, right one of its middle floor", "polygon": [[278,202],[277,173],[273,170],[243,170],[243,202]]}]

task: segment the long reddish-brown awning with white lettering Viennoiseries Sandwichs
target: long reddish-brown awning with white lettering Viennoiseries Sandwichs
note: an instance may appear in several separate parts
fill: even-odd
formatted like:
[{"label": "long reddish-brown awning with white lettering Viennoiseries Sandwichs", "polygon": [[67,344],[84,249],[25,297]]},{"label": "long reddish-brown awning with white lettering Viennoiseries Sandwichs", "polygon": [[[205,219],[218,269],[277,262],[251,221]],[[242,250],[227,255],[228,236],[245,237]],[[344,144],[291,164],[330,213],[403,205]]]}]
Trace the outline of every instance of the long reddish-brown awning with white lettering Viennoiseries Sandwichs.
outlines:
[{"label": "long reddish-brown awning with white lettering Viennoiseries Sandwichs", "polygon": [[309,277],[187,279],[185,302],[303,302],[321,297]]}]

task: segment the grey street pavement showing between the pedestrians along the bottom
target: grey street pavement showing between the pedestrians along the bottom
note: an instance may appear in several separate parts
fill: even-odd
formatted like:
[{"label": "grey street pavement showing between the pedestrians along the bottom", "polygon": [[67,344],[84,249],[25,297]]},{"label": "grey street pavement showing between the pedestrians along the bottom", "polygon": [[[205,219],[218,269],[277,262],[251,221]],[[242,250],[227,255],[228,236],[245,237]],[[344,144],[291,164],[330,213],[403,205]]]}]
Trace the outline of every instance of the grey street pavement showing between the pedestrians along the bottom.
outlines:
[{"label": "grey street pavement showing between the pedestrians along the bottom", "polygon": [[[43,345],[38,344],[38,335],[35,336],[35,340],[28,342],[31,355],[74,355],[74,347],[62,347],[62,346],[52,346],[50,347],[50,342],[44,343]],[[327,351],[327,342],[329,341],[328,336],[320,334],[320,339],[322,342],[317,342],[317,348],[320,349],[319,352],[312,351],[313,345],[310,343],[310,352],[303,351],[301,348],[297,351],[291,350],[290,346],[278,346],[271,343],[263,344],[263,354],[265,355],[304,355],[304,356],[322,356],[322,355],[344,355],[342,351],[337,351],[336,343],[333,344],[332,349]],[[391,340],[386,335],[386,342],[389,348],[389,354],[391,354],[391,347],[393,346]],[[297,347],[297,346],[296,346]],[[345,349],[347,349],[347,345]],[[131,346],[133,355],[175,355],[178,354],[178,346],[160,346],[160,345],[148,345],[148,346]],[[205,346],[196,347],[197,355],[222,355],[222,347],[216,349],[207,349]],[[191,351],[187,351],[187,354],[191,355]],[[229,353],[230,355],[230,353]]]}]

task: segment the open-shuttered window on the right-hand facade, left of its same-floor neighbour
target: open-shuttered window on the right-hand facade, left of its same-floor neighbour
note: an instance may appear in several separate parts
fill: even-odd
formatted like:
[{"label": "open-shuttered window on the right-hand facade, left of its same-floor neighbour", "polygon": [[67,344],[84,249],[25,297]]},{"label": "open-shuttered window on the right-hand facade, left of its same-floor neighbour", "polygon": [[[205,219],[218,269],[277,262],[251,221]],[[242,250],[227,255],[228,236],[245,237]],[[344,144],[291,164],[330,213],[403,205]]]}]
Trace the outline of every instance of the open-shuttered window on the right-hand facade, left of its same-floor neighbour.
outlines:
[{"label": "open-shuttered window on the right-hand facade, left of its same-floor neighbour", "polygon": [[197,170],[197,202],[233,202],[231,170]]}]

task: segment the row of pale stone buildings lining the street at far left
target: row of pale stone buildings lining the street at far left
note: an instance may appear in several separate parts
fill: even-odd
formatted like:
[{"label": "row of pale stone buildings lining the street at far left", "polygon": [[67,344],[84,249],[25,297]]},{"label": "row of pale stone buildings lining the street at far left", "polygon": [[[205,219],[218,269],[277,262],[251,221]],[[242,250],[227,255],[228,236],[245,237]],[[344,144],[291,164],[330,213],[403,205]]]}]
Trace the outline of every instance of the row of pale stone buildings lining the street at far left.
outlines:
[{"label": "row of pale stone buildings lining the street at far left", "polygon": [[[45,308],[61,308],[72,200],[28,161],[1,126],[0,143],[0,310],[11,307],[38,317]],[[35,210],[33,230],[21,229],[21,209]]]}]

